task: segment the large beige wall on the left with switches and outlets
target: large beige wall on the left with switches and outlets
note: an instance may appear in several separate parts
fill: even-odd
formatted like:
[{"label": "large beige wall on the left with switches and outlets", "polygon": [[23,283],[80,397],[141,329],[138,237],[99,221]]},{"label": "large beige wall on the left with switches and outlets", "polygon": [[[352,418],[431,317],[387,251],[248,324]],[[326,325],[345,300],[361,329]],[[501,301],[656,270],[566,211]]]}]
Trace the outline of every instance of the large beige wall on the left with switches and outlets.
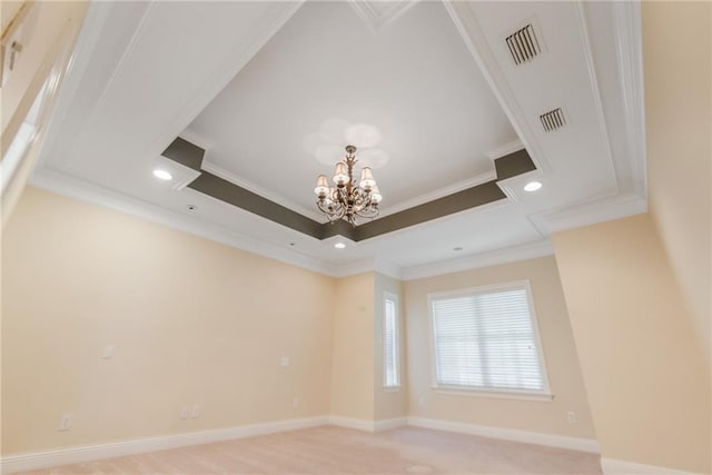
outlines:
[{"label": "large beige wall on the left with switches and outlets", "polygon": [[[2,454],[327,415],[334,294],[328,277],[29,188],[2,236]],[[202,416],[180,420],[194,403]]]}]

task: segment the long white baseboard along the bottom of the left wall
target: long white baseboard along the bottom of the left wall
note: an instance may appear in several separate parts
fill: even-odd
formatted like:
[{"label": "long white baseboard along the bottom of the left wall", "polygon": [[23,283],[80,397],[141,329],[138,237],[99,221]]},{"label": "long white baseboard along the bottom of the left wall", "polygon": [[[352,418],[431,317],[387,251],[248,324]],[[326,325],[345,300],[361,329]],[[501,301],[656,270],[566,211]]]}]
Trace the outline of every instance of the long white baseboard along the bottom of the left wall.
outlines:
[{"label": "long white baseboard along the bottom of the left wall", "polygon": [[3,474],[34,471],[101,458],[121,457],[125,455],[165,451],[168,448],[185,447],[188,445],[208,444],[211,442],[229,441],[233,438],[251,437],[277,432],[316,427],[328,424],[328,422],[329,418],[327,416],[287,419],[274,423],[191,432],[161,437],[139,438],[85,447],[60,448],[57,451],[39,452],[33,454],[11,455],[0,461],[0,469]]}]

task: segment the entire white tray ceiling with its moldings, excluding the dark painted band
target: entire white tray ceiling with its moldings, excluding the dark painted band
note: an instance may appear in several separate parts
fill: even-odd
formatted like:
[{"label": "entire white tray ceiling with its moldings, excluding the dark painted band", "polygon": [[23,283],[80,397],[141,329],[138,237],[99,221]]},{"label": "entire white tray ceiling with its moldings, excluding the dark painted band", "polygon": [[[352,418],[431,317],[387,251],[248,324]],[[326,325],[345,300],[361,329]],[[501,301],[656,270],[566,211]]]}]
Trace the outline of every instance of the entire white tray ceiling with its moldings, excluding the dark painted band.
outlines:
[{"label": "entire white tray ceiling with its moldings, excluding the dark painted band", "polygon": [[[543,52],[516,66],[504,39],[528,22]],[[330,275],[547,254],[552,230],[645,209],[640,34],[627,2],[97,2],[32,182]],[[557,107],[566,126],[544,132]],[[206,170],[315,216],[332,170],[307,146],[334,118],[382,131],[386,214],[493,179],[517,144],[538,169],[498,182],[507,199],[345,250],[150,174],[181,136]]]}]

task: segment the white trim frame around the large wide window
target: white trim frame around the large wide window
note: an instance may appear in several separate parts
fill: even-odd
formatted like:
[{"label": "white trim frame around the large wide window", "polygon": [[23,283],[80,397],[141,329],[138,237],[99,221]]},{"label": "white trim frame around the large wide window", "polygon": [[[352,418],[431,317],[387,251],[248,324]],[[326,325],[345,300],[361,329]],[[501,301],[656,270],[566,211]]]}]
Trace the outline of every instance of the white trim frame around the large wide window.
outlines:
[{"label": "white trim frame around the large wide window", "polygon": [[[498,290],[513,290],[524,288],[526,293],[526,300],[530,307],[530,317],[532,319],[532,330],[534,333],[534,343],[536,345],[536,353],[540,360],[542,372],[542,390],[527,390],[527,389],[505,389],[505,388],[487,388],[487,387],[467,387],[467,386],[453,386],[443,385],[437,382],[437,364],[435,356],[435,318],[433,316],[433,303],[435,300],[447,297],[463,297],[478,294],[491,294]],[[534,305],[534,297],[532,294],[532,285],[528,279],[512,280],[500,284],[490,284],[477,287],[467,287],[454,290],[431,293],[427,295],[427,313],[428,313],[428,339],[431,350],[431,387],[437,393],[465,395],[465,396],[484,396],[484,397],[500,397],[500,398],[516,398],[516,399],[532,399],[551,402],[554,395],[551,390],[548,382],[548,373],[546,370],[546,358],[544,357],[544,347],[542,345],[542,337],[538,329],[538,318],[536,316],[536,307]]]}]

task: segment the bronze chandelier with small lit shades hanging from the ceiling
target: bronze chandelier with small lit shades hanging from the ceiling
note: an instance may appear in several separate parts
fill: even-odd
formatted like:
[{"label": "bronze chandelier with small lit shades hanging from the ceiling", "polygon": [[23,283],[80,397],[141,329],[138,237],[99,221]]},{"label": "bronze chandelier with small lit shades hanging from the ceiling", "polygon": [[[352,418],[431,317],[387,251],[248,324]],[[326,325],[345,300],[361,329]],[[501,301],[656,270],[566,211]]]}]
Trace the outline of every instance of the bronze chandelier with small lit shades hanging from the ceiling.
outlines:
[{"label": "bronze chandelier with small lit shades hanging from the ceiling", "polygon": [[360,180],[354,181],[356,147],[346,146],[346,158],[336,164],[334,185],[329,187],[326,175],[319,175],[314,192],[319,198],[317,208],[334,222],[342,218],[356,226],[357,218],[373,219],[378,216],[380,191],[369,167],[360,170]]}]

